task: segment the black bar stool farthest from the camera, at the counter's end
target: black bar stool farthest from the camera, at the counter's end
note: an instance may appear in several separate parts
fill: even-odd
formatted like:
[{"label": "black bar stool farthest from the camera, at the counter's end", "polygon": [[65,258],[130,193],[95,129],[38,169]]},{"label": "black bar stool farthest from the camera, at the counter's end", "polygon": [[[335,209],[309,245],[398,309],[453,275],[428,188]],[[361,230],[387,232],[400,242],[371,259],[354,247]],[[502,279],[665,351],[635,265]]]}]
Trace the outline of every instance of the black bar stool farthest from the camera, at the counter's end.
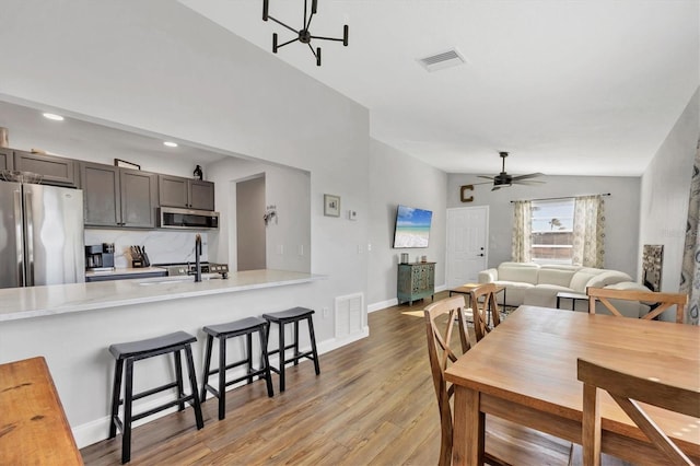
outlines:
[{"label": "black bar stool farthest from the camera, at the counter's end", "polygon": [[[316,336],[314,335],[314,321],[312,315],[313,310],[306,307],[293,307],[291,310],[273,312],[269,314],[262,314],[262,317],[270,324],[277,324],[279,327],[279,347],[276,350],[269,351],[268,354],[280,354],[279,369],[270,366],[270,370],[280,374],[280,392],[284,392],[284,365],[289,362],[294,362],[294,365],[299,364],[301,358],[311,359],[314,361],[314,368],[316,375],[320,374],[320,368],[318,366],[318,353],[316,352]],[[311,351],[299,352],[299,322],[306,321],[308,323],[308,336],[311,338]],[[294,341],[290,345],[284,345],[284,325],[294,323]],[[288,349],[294,349],[294,356],[287,359],[285,351]]]}]

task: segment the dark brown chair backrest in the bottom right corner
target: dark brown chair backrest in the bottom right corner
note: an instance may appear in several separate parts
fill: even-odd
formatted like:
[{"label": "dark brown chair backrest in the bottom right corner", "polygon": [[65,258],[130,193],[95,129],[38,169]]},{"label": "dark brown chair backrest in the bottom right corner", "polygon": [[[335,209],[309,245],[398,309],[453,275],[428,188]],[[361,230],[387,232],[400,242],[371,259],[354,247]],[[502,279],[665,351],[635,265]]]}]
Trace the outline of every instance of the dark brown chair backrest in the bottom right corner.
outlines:
[{"label": "dark brown chair backrest in the bottom right corner", "polygon": [[668,464],[692,465],[693,463],[669,439],[648,412],[635,403],[657,406],[668,411],[700,418],[700,392],[667,385],[658,381],[626,374],[603,365],[578,360],[579,380],[583,382],[583,464],[599,465],[600,461],[600,411],[597,389],[608,392],[627,416],[646,435],[650,442],[668,458]]}]

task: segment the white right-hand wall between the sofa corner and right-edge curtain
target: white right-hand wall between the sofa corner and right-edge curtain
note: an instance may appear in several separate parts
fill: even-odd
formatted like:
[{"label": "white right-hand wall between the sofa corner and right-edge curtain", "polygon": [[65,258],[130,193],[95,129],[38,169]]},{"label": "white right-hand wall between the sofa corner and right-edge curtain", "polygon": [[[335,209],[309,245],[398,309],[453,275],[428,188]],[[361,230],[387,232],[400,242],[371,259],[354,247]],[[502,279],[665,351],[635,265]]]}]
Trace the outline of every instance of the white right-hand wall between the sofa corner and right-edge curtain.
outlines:
[{"label": "white right-hand wall between the sofa corner and right-edge curtain", "polygon": [[678,292],[680,284],[690,178],[700,138],[699,92],[692,95],[642,176],[639,254],[641,257],[644,244],[664,246],[662,291]]}]

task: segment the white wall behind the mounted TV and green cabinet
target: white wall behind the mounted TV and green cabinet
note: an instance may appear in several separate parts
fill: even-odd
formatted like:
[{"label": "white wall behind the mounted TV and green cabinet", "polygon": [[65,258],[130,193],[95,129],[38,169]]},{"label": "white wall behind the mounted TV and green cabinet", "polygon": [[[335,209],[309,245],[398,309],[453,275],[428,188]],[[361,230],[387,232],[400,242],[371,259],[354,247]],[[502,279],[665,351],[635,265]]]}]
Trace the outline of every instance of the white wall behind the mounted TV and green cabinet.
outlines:
[{"label": "white wall behind the mounted TV and green cabinet", "polygon": [[[435,288],[445,284],[445,184],[447,175],[380,141],[370,143],[370,219],[368,302],[370,310],[396,303],[396,276],[400,253],[410,260],[428,256],[435,261]],[[428,248],[394,249],[394,223],[398,205],[433,211]]]}]

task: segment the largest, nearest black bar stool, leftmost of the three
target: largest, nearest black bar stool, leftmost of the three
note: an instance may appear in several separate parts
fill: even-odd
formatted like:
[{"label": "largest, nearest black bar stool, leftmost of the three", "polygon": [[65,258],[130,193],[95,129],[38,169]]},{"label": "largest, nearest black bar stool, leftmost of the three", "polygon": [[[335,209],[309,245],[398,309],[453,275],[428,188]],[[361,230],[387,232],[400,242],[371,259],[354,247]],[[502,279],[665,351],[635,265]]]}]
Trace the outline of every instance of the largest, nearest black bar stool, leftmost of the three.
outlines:
[{"label": "largest, nearest black bar stool, leftmost of the three", "polygon": [[[117,435],[117,428],[122,433],[121,438],[121,463],[129,463],[131,459],[131,423],[155,412],[178,406],[179,410],[185,409],[185,401],[188,401],[195,408],[195,419],[197,421],[197,430],[205,427],[201,417],[201,406],[199,405],[199,396],[197,394],[197,376],[195,374],[195,363],[192,361],[192,350],[190,343],[197,341],[197,338],[185,331],[176,331],[174,334],[163,335],[162,337],[150,338],[147,340],[131,341],[127,343],[117,343],[109,347],[109,352],[116,358],[114,371],[114,386],[112,389],[112,419],[109,422],[109,439]],[[183,363],[180,351],[185,351],[187,362],[187,372],[189,374],[189,383],[191,394],[185,395],[183,388]],[[141,393],[133,393],[133,363],[136,361],[153,358],[155,356],[173,353],[175,358],[175,377],[174,382],[161,385],[155,388]],[[125,394],[121,399],[121,374],[124,372],[124,362],[126,361],[126,381]],[[140,413],[132,413],[132,403],[159,392],[171,388],[177,388],[177,398],[164,405],[149,409]],[[124,422],[119,419],[119,405],[124,403]]]}]

